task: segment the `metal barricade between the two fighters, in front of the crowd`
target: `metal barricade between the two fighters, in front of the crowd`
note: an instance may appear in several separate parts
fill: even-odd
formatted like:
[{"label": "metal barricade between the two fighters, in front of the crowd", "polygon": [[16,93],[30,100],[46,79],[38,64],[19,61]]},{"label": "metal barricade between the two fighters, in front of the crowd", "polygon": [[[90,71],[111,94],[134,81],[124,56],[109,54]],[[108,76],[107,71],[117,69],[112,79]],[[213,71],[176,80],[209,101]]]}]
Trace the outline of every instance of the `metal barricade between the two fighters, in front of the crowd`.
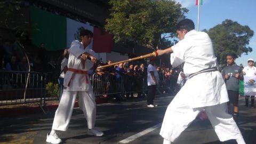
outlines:
[{"label": "metal barricade between the two fighters, in front of the crowd", "polygon": [[[148,91],[147,76],[132,77],[126,74],[95,73],[91,78],[95,97],[109,94],[129,95],[130,93],[145,94]],[[159,80],[157,91],[164,89],[163,82]]]}]

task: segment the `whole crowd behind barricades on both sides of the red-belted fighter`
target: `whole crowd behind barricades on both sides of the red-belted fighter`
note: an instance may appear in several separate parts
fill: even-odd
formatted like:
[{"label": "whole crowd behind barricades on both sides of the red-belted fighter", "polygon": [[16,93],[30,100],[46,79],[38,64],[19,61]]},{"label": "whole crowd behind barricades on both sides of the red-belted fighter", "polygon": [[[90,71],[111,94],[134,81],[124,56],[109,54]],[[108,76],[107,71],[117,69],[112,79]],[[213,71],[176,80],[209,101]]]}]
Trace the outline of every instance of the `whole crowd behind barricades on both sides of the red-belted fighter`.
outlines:
[{"label": "whole crowd behind barricades on both sides of the red-belted fighter", "polygon": [[[61,53],[59,53],[60,58],[58,59],[47,57],[47,51],[45,49],[44,43],[41,43],[40,47],[36,48],[36,51],[33,53],[26,51],[24,48],[25,47],[21,43],[20,37],[16,37],[14,42],[3,41],[2,37],[0,37],[0,61],[2,62],[0,67],[1,70],[29,71],[30,67],[30,71],[42,73],[45,77],[45,74],[50,73],[50,75],[47,75],[46,77],[47,81],[58,83],[58,78],[61,72]],[[25,54],[25,51],[27,55]],[[28,56],[29,63],[26,56]],[[110,64],[112,61],[108,60],[107,63]],[[146,92],[143,91],[143,89],[146,89],[147,87],[147,62],[145,61],[142,63],[133,63],[120,63],[119,65],[108,67],[101,71],[93,71],[91,74],[97,72],[100,75],[112,74],[117,80],[122,75],[122,85],[124,87],[126,99],[134,98],[134,93],[137,93],[137,97],[142,97],[146,95]],[[157,71],[160,77],[158,87],[161,89],[161,92],[175,94],[175,91],[177,91],[177,78],[180,69],[166,68],[162,66],[157,67]],[[108,83],[108,87],[106,88],[106,95],[111,90],[110,85],[111,84]],[[121,86],[119,86],[119,89],[121,89]]]}]

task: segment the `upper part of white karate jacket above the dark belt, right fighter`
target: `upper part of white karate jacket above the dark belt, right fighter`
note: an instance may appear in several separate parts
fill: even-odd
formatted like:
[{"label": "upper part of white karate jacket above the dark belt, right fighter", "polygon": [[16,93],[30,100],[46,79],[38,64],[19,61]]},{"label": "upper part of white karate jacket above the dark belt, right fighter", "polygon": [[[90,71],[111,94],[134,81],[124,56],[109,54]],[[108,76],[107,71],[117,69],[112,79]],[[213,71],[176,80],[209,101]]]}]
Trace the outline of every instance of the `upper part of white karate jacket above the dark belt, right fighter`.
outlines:
[{"label": "upper part of white karate jacket above the dark belt, right fighter", "polygon": [[217,67],[217,58],[212,48],[212,41],[202,31],[189,31],[184,39],[172,46],[172,50],[171,62],[174,67],[185,62],[183,70],[186,75]]}]

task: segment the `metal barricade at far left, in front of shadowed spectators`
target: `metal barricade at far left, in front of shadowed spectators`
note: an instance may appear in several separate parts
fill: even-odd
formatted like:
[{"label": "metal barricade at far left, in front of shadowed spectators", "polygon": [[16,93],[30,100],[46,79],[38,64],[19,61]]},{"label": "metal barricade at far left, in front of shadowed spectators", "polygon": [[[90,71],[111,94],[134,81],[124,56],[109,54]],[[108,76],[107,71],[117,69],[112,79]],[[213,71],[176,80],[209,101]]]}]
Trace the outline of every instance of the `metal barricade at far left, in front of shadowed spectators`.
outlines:
[{"label": "metal barricade at far left, in front of shadowed spectators", "polygon": [[[27,89],[26,82],[28,82]],[[43,91],[41,73],[0,71],[0,106],[34,102],[39,102],[41,105]]]}]

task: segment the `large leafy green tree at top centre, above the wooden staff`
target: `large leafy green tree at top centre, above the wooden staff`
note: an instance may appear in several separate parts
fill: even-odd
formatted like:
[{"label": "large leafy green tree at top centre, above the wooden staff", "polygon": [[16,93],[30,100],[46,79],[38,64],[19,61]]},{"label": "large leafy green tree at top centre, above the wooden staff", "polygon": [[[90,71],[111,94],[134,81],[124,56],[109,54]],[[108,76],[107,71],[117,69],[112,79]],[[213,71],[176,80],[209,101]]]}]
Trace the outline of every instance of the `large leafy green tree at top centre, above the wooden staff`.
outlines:
[{"label": "large leafy green tree at top centre, above the wooden staff", "polygon": [[110,18],[105,29],[115,42],[156,47],[161,34],[173,33],[187,9],[175,1],[110,0]]}]

